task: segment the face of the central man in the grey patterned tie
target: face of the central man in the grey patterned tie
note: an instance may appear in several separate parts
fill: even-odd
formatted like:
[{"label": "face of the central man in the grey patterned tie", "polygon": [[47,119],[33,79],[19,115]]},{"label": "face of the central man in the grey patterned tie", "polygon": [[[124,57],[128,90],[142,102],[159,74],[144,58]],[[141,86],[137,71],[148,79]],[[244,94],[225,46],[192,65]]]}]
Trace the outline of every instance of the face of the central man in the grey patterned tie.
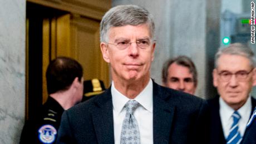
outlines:
[{"label": "face of the central man in the grey patterned tie", "polygon": [[[139,26],[112,27],[109,29],[109,41],[101,43],[104,60],[111,64],[112,79],[115,81],[136,81],[150,78],[151,62],[154,59],[155,43],[142,49],[136,41],[151,41],[147,24]],[[116,43],[132,42],[125,49],[119,49]]]}]

